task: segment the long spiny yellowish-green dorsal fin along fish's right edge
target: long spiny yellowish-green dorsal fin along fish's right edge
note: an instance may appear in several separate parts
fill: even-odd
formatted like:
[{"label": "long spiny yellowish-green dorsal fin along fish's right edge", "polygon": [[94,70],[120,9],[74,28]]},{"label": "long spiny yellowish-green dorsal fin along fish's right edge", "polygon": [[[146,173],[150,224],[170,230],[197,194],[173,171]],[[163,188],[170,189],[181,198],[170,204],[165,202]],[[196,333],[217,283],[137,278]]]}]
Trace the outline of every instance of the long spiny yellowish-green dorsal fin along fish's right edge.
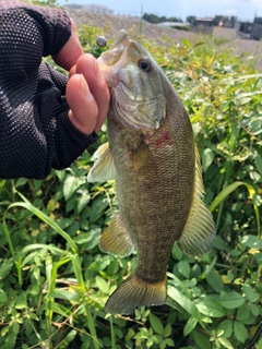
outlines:
[{"label": "long spiny yellowish-green dorsal fin along fish's right edge", "polygon": [[189,255],[201,255],[210,252],[215,239],[215,224],[210,210],[202,201],[204,186],[201,173],[200,156],[195,153],[194,193],[190,214],[181,237],[178,239],[179,248]]}]

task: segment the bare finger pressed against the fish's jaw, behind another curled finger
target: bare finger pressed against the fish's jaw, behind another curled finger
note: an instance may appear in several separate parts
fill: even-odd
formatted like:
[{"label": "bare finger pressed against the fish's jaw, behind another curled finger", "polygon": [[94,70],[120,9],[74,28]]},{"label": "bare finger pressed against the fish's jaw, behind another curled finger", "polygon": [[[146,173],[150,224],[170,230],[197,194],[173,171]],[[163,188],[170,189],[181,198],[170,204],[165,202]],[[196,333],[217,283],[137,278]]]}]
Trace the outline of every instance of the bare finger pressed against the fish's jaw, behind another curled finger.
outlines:
[{"label": "bare finger pressed against the fish's jaw, behind another curled finger", "polygon": [[108,86],[102,75],[96,59],[92,55],[86,53],[79,58],[76,63],[76,72],[84,75],[90,91],[96,100],[98,115],[95,132],[98,132],[106,119],[108,111],[110,98]]}]

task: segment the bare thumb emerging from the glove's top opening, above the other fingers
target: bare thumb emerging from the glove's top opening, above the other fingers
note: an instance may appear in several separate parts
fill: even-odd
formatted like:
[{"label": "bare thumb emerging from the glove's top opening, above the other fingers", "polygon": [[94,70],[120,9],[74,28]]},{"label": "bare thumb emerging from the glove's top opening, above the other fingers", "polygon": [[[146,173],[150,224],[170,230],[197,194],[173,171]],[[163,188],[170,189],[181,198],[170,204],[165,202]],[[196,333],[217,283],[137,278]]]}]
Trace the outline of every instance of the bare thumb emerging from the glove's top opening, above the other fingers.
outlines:
[{"label": "bare thumb emerging from the glove's top opening, above the other fingers", "polygon": [[67,44],[58,53],[52,55],[53,61],[68,71],[76,63],[79,57],[83,55],[83,49],[81,47],[76,33],[76,27],[72,20],[71,28],[71,36]]}]

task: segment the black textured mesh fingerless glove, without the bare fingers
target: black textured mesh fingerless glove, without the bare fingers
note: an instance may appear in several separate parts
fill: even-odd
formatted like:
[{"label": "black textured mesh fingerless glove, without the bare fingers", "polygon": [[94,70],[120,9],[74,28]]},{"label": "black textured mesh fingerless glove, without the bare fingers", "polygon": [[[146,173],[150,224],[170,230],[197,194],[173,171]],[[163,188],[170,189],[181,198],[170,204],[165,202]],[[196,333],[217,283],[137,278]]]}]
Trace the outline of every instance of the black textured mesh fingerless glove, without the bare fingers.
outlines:
[{"label": "black textured mesh fingerless glove, without the bare fingers", "polygon": [[41,57],[71,35],[66,12],[0,2],[0,178],[48,176],[93,144],[68,119],[67,77]]}]

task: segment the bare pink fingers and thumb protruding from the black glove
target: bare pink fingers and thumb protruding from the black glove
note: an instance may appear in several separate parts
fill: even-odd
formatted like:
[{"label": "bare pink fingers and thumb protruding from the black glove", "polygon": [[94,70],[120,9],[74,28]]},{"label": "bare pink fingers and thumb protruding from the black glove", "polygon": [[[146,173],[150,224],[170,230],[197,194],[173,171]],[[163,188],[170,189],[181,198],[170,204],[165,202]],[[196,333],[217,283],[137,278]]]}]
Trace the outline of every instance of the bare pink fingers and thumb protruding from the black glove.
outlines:
[{"label": "bare pink fingers and thumb protruding from the black glove", "polygon": [[68,115],[70,121],[84,134],[97,133],[107,115],[109,91],[96,59],[92,55],[83,55],[72,20],[71,25],[70,39],[52,59],[58,65],[70,70],[66,92],[71,108]]}]

